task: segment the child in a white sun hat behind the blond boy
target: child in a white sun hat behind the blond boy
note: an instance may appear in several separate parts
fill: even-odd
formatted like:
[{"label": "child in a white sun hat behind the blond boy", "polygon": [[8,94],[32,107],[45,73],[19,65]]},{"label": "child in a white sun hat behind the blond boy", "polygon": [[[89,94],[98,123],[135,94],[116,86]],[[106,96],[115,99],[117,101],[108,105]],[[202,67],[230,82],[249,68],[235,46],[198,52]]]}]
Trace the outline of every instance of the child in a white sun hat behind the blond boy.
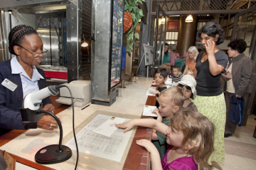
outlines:
[{"label": "child in a white sun hat behind the blond boy", "polygon": [[196,80],[193,76],[188,74],[184,75],[181,78],[181,81],[176,84],[177,86],[181,87],[181,91],[184,94],[184,103],[183,108],[190,108],[193,111],[198,111],[196,105],[190,101],[189,98],[195,99],[196,97]]}]

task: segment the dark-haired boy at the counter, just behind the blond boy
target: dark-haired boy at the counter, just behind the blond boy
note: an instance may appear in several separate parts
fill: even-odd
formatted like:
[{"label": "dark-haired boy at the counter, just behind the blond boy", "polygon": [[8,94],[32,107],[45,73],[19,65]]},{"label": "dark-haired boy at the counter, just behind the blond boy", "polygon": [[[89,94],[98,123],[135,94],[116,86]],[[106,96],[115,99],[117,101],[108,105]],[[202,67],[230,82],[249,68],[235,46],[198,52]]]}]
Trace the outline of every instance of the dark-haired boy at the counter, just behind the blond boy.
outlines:
[{"label": "dark-haired boy at the counter, just behind the blond boy", "polygon": [[[166,81],[168,76],[168,71],[166,68],[157,68],[155,72],[155,78],[153,83],[156,83],[157,90],[156,91],[149,91],[152,94],[156,94],[156,97],[159,96],[161,91],[166,89],[166,86],[164,85],[164,82]],[[156,107],[159,107],[158,98],[156,98]]]}]

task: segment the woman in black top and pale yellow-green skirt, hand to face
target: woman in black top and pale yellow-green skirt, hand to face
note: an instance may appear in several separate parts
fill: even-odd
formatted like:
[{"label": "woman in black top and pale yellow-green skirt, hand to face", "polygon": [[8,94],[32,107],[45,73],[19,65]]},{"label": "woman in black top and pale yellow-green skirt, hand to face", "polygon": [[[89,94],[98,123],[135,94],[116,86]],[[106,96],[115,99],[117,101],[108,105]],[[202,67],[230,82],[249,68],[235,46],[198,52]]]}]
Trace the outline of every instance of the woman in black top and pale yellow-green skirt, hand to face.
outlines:
[{"label": "woman in black top and pale yellow-green skirt, hand to face", "polygon": [[206,51],[196,59],[196,96],[193,101],[198,112],[205,115],[215,125],[215,152],[209,163],[224,164],[224,131],[226,121],[225,99],[220,87],[220,74],[227,66],[228,56],[217,45],[224,42],[224,32],[220,24],[207,22],[198,32]]}]

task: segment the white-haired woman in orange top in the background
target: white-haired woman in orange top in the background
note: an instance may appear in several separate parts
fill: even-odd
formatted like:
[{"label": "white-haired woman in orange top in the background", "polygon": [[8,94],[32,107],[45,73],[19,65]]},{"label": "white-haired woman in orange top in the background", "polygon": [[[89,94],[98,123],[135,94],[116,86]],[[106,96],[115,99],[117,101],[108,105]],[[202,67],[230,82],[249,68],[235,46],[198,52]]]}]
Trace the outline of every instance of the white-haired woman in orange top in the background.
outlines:
[{"label": "white-haired woman in orange top in the background", "polygon": [[184,76],[189,69],[195,71],[196,69],[196,57],[198,56],[198,49],[195,46],[191,46],[188,49],[188,59],[186,60],[186,68],[183,71]]}]

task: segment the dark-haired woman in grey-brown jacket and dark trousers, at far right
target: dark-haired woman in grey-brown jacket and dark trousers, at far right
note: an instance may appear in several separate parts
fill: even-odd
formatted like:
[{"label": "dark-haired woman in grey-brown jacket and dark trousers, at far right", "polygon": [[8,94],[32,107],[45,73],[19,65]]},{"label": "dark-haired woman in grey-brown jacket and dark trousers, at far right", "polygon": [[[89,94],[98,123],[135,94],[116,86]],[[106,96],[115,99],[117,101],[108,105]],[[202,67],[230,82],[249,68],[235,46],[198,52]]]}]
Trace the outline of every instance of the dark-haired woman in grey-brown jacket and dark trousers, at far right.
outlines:
[{"label": "dark-haired woman in grey-brown jacket and dark trousers, at far right", "polygon": [[230,99],[233,95],[235,95],[235,98],[243,98],[245,93],[252,91],[253,61],[243,54],[246,48],[247,44],[243,39],[234,39],[228,44],[228,56],[231,58],[228,71],[232,73],[232,79],[227,81],[227,89],[225,91],[227,107],[225,138],[232,136],[237,128],[237,124],[228,119],[228,114],[232,108]]}]

